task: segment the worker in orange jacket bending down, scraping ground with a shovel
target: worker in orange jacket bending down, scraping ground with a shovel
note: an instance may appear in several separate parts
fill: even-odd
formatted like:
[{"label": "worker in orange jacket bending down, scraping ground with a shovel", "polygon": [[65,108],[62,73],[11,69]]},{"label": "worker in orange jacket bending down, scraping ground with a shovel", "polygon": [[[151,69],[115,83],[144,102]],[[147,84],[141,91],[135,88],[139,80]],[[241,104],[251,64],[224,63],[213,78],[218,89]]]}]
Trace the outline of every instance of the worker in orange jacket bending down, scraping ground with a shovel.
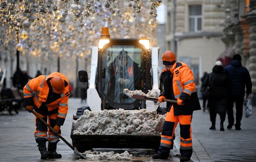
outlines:
[{"label": "worker in orange jacket bending down, scraping ground with a shovel", "polygon": [[40,75],[27,82],[23,87],[23,95],[27,111],[32,112],[34,109],[46,122],[48,117],[48,124],[53,127],[53,131],[49,130],[47,136],[47,126],[35,117],[34,137],[38,143],[41,159],[61,158],[56,148],[60,141],[58,133],[61,134],[61,125],[64,124],[67,116],[67,100],[70,96],[66,76],[58,72],[48,76]]}]

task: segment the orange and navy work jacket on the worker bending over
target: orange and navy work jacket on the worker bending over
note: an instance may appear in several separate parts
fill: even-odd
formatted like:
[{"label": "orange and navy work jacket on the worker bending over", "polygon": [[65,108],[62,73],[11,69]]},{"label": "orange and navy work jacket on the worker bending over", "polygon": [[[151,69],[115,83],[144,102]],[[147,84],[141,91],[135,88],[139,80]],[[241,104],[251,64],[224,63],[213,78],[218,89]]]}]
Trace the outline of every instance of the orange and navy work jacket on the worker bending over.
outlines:
[{"label": "orange and navy work jacket on the worker bending over", "polygon": [[65,118],[67,116],[67,101],[69,93],[69,83],[65,75],[54,72],[50,75],[40,75],[30,81],[23,87],[23,95],[25,99],[25,106],[34,105],[37,108],[41,108],[42,103],[46,102],[49,87],[48,87],[48,80],[53,78],[54,76],[60,76],[65,81],[65,90],[64,93],[60,94],[60,98],[54,100],[51,103],[48,103],[47,109],[48,112],[53,111],[54,109],[58,110],[58,116],[56,120],[56,125],[63,125]]}]

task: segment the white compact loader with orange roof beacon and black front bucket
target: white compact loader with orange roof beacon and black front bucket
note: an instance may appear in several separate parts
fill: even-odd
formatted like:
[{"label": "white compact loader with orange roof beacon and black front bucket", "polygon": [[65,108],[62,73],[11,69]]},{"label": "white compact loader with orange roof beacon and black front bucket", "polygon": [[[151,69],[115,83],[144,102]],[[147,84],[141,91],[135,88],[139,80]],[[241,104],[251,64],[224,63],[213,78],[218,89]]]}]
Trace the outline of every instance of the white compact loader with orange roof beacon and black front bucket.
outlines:
[{"label": "white compact loader with orange roof beacon and black front bucket", "polygon": [[[155,110],[159,102],[135,100],[123,93],[124,89],[148,90],[159,88],[159,48],[151,47],[146,37],[140,39],[110,38],[103,27],[98,46],[91,47],[90,81],[87,90],[88,106],[78,108],[74,120],[88,109],[91,111],[119,109]],[[88,81],[86,71],[79,71],[79,80]],[[73,146],[79,151],[91,148],[144,148],[158,149],[159,135],[74,135]]]}]

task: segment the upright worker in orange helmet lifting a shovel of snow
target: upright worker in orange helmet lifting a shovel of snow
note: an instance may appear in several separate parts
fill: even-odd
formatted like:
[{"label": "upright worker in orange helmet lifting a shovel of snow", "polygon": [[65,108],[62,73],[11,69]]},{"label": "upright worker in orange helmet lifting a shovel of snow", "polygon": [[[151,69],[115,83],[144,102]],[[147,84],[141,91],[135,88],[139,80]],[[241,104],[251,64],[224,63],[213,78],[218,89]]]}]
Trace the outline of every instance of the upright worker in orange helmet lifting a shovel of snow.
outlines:
[{"label": "upright worker in orange helmet lifting a shovel of snow", "polygon": [[181,162],[189,161],[192,156],[191,120],[195,110],[201,110],[197,93],[195,91],[195,81],[189,66],[183,62],[176,62],[176,56],[172,51],[162,54],[162,62],[165,66],[164,91],[159,97],[159,102],[163,99],[177,100],[177,104],[167,103],[168,111],[162,128],[161,143],[153,159],[168,159],[175,127],[180,122],[181,136]]}]

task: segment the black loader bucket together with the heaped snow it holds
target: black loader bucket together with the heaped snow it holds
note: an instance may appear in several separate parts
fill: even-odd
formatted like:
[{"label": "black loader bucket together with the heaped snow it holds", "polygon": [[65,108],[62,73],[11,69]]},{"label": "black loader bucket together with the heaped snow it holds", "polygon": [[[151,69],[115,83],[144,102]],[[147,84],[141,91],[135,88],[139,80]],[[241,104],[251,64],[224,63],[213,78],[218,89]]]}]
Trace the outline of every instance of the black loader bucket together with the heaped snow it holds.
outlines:
[{"label": "black loader bucket together with the heaped snow it holds", "polygon": [[155,111],[103,110],[73,120],[71,139],[80,152],[92,148],[158,149],[164,116]]}]

